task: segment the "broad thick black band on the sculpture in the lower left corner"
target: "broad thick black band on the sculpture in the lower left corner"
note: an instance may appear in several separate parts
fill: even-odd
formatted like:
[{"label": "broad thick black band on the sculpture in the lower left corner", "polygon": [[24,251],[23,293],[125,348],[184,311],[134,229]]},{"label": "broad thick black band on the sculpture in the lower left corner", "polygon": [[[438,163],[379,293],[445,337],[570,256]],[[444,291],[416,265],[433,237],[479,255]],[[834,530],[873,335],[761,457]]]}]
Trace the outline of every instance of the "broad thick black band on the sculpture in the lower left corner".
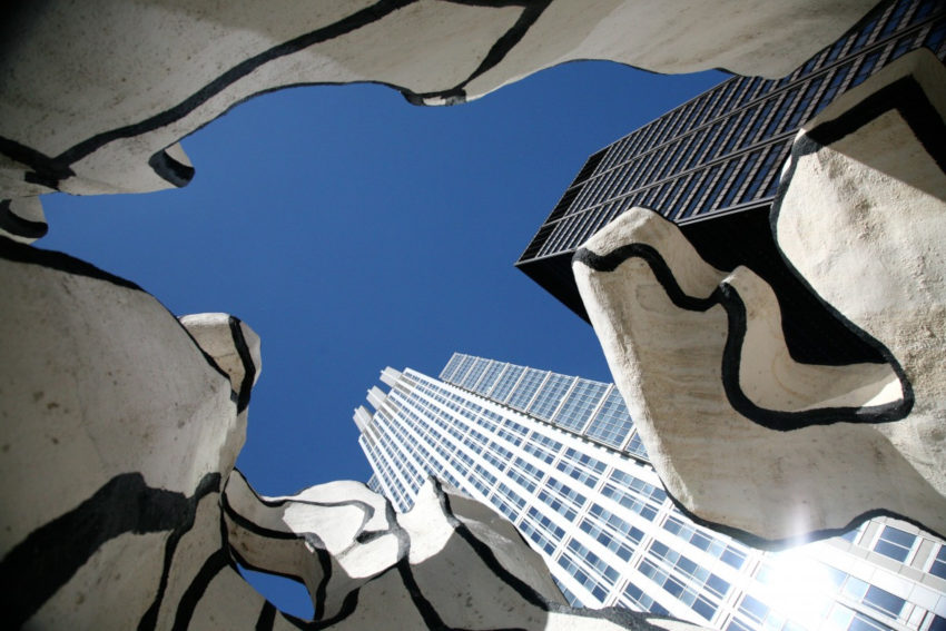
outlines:
[{"label": "broad thick black band on the sculpture in the lower left corner", "polygon": [[124,473],[91,497],[30,532],[0,561],[6,585],[0,618],[21,627],[108,541],[126,533],[189,530],[201,489],[219,484],[218,473],[201,479],[195,495],[151,489],[140,473]]}]

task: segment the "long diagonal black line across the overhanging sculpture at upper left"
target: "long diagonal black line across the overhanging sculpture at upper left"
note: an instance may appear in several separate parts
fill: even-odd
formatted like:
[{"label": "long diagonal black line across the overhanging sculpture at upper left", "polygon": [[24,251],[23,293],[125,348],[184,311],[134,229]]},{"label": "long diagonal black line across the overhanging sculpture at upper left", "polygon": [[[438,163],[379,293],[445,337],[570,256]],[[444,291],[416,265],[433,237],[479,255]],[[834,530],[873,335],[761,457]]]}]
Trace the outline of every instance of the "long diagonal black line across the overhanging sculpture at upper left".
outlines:
[{"label": "long diagonal black line across the overhanging sculpture at upper left", "polygon": [[[176,106],[165,109],[139,122],[126,125],[124,127],[97,134],[91,138],[88,138],[77,145],[73,145],[72,147],[53,158],[52,162],[72,165],[76,161],[81,160],[86,156],[92,154],[93,151],[100,149],[102,146],[111,142],[112,140],[140,136],[141,134],[154,131],[155,129],[170,125],[171,122],[184,118],[185,116],[197,109],[199,106],[201,106],[204,102],[217,96],[236,81],[250,75],[257,68],[264,66],[265,63],[275,59],[279,59],[280,57],[298,52],[311,46],[323,43],[354,32],[359,28],[363,28],[367,24],[381,20],[382,18],[387,17],[388,14],[397,11],[398,9],[414,3],[415,1],[416,0],[381,0],[332,24],[295,37],[286,42],[279,43],[277,46],[274,46],[273,48],[264,50],[263,52],[254,55],[253,57],[245,59],[236,66],[229,68],[228,70],[219,75],[216,79],[214,79],[213,81],[210,81],[209,83],[207,83],[206,86],[204,86],[203,88],[200,88]],[[0,148],[2,148],[2,145],[0,145]]]}]

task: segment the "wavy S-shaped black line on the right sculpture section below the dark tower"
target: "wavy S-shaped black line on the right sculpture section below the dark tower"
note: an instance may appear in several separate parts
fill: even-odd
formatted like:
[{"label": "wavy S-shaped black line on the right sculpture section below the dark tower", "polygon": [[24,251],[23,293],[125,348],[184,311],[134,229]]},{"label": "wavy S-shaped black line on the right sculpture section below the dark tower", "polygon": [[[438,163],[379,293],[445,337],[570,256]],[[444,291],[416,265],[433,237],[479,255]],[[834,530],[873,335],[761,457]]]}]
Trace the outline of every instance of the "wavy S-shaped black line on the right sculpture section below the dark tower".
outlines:
[{"label": "wavy S-shaped black line on the right sculpture section below the dark tower", "polygon": [[[657,214],[654,216],[659,217]],[[740,383],[742,342],[746,336],[747,322],[745,306],[742,306],[735,288],[723,284],[717,287],[709,298],[688,296],[680,288],[660,253],[647,244],[623,245],[605,255],[598,255],[587,248],[579,248],[572,260],[584,264],[597,272],[610,273],[629,258],[641,258],[648,264],[654,278],[674,306],[691,312],[704,312],[719,304],[726,309],[728,334],[721,358],[722,386],[732,410],[748,421],[769,430],[789,432],[811,425],[831,425],[842,422],[889,423],[904,418],[913,408],[913,390],[907,387],[905,378],[900,379],[905,396],[890,404],[870,407],[819,407],[797,412],[768,410],[756,405],[746,396]],[[889,352],[886,356],[890,356]],[[894,368],[896,371],[896,366]]]}]

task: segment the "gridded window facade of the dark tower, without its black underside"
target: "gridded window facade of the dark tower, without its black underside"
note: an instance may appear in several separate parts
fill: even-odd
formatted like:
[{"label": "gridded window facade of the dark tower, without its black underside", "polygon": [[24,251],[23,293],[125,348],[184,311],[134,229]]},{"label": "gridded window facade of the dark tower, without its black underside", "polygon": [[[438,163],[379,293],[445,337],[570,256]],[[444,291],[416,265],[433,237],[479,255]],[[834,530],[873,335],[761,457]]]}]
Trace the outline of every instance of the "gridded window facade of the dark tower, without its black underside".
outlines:
[{"label": "gridded window facade of the dark tower, without its black underside", "polygon": [[[771,157],[784,160],[790,138],[780,137],[838,93],[920,46],[946,57],[946,19],[930,21],[928,7],[903,0],[789,77],[732,78],[595,154],[582,169],[585,179],[565,193],[523,258],[573,250],[631,206],[683,219],[770,198],[778,164],[760,161],[758,152],[741,160],[740,151],[773,141],[786,150],[770,148]],[[715,118],[721,112],[725,118]],[[589,169],[592,162],[597,168]],[[694,169],[711,172],[687,177]],[[739,181],[729,185],[733,178]],[[751,193],[743,188],[747,180],[755,180]],[[585,216],[574,217],[581,213]]]}]

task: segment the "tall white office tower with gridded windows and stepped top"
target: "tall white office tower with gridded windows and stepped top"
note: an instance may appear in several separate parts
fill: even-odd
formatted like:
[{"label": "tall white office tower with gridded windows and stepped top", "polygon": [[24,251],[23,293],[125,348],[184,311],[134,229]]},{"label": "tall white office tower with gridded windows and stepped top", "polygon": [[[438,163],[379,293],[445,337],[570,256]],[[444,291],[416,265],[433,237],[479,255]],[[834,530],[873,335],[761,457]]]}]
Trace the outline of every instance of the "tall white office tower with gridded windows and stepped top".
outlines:
[{"label": "tall white office tower with gridded windows and stepped top", "polygon": [[946,545],[880,517],[762,552],[696,525],[611,384],[454,354],[440,379],[385,368],[355,411],[369,485],[405,511],[428,475],[491,504],[570,602],[726,630],[946,630]]}]

